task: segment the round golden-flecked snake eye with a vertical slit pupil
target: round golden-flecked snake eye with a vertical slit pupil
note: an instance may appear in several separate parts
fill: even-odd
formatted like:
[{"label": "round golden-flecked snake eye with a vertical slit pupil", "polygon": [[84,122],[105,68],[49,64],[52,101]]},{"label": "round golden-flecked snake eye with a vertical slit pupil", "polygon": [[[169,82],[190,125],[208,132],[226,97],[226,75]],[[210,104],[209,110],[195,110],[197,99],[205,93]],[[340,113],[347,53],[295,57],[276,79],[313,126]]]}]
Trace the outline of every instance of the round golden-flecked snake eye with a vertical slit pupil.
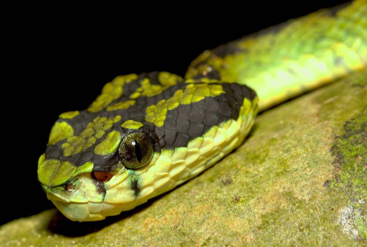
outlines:
[{"label": "round golden-flecked snake eye with a vertical slit pupil", "polygon": [[153,141],[144,132],[128,134],[119,146],[119,158],[127,168],[139,168],[153,157]]}]

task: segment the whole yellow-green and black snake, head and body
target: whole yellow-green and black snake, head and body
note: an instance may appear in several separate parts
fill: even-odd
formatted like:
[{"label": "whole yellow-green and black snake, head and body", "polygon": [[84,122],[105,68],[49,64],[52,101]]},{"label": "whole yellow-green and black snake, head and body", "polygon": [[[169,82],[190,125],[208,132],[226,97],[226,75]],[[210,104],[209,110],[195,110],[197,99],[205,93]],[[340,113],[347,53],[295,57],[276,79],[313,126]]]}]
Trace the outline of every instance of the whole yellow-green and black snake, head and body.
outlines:
[{"label": "whole yellow-green and black snake, head and body", "polygon": [[72,221],[118,215],[235,150],[259,112],[366,65],[367,2],[356,0],[206,50],[184,77],[117,76],[86,110],[59,115],[39,184]]}]

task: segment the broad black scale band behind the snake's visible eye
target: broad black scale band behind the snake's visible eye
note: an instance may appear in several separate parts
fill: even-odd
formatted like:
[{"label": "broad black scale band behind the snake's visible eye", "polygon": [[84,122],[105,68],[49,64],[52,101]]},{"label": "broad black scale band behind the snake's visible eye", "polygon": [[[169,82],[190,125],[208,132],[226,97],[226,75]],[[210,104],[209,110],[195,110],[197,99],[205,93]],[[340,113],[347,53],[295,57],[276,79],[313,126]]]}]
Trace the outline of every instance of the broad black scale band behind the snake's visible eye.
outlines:
[{"label": "broad black scale band behind the snake's visible eye", "polygon": [[246,86],[231,83],[221,83],[221,86],[225,94],[169,110],[167,113],[170,115],[178,112],[178,117],[175,122],[170,119],[164,122],[165,136],[162,143],[166,146],[171,144],[175,148],[185,147],[190,140],[202,136],[212,126],[229,119],[237,120],[243,99],[252,101],[256,97],[255,92]]}]

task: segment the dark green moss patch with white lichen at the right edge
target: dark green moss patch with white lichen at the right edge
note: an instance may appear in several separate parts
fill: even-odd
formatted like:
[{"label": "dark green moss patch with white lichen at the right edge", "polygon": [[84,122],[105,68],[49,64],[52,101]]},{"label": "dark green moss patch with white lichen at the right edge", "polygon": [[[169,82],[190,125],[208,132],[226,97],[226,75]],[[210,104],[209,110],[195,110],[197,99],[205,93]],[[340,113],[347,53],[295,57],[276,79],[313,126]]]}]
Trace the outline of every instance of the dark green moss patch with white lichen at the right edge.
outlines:
[{"label": "dark green moss patch with white lichen at the right edge", "polygon": [[331,148],[340,172],[328,184],[342,191],[348,200],[338,218],[344,232],[356,239],[367,239],[367,108],[347,121],[344,131]]}]

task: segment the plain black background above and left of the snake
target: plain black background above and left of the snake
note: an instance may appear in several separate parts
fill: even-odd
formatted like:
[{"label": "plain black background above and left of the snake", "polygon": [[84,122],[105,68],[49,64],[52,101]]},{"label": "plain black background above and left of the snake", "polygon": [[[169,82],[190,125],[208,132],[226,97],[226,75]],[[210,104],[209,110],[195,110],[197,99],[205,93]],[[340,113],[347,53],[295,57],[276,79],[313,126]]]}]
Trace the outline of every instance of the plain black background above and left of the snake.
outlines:
[{"label": "plain black background above and left of the snake", "polygon": [[37,160],[51,126],[59,113],[86,109],[115,76],[154,70],[184,76],[190,61],[206,49],[343,2],[146,11],[125,6],[100,11],[103,16],[65,8],[28,14],[18,22],[13,17],[15,25],[6,28],[2,90],[0,225],[53,207],[37,182]]}]

